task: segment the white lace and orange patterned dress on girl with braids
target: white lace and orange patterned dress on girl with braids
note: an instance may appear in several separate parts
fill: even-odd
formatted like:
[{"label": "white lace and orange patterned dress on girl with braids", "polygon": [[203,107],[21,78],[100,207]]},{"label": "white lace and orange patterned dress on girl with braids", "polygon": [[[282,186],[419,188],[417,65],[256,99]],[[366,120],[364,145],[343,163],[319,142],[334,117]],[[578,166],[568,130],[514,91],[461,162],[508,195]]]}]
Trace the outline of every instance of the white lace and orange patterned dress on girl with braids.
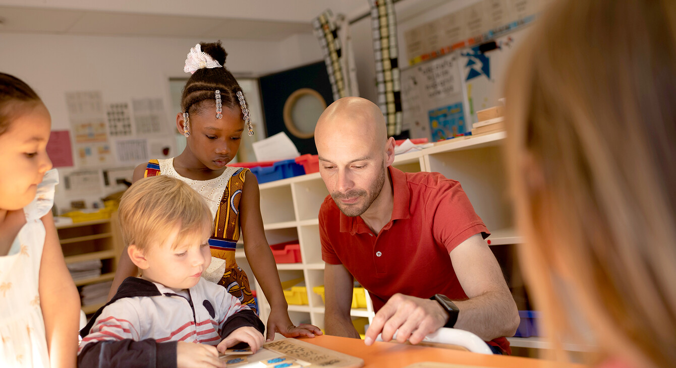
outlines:
[{"label": "white lace and orange patterned dress on girl with braids", "polygon": [[212,263],[202,277],[223,286],[241,304],[258,313],[247,274],[235,260],[235,246],[239,240],[239,201],[247,171],[249,169],[244,167],[226,167],[218,178],[192,180],[176,172],[174,159],[171,158],[150,160],[144,176],[168,175],[183,180],[206,199],[214,215],[214,233],[209,239]]}]

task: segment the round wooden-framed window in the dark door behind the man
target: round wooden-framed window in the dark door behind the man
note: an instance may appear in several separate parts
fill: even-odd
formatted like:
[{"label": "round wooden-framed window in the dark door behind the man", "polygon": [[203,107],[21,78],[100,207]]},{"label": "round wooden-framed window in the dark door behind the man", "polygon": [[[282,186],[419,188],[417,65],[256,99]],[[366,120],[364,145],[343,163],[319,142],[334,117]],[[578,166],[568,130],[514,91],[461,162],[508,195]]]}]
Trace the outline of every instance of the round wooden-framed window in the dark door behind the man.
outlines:
[{"label": "round wooden-framed window in the dark door behind the man", "polygon": [[297,138],[312,138],[319,115],[327,103],[324,97],[312,88],[300,88],[291,93],[284,103],[284,125]]}]

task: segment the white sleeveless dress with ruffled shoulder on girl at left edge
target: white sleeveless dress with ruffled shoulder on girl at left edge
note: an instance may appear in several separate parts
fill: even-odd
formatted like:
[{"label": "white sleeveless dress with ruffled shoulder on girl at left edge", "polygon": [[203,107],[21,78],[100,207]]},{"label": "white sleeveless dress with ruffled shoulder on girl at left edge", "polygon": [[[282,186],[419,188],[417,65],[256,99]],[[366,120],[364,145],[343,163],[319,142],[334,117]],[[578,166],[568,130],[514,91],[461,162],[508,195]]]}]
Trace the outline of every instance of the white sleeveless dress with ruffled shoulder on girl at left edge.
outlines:
[{"label": "white sleeveless dress with ruffled shoulder on girl at left edge", "polygon": [[49,367],[38,292],[45,245],[41,217],[51,211],[58,182],[56,169],[45,173],[35,199],[24,207],[26,225],[0,257],[0,367]]}]

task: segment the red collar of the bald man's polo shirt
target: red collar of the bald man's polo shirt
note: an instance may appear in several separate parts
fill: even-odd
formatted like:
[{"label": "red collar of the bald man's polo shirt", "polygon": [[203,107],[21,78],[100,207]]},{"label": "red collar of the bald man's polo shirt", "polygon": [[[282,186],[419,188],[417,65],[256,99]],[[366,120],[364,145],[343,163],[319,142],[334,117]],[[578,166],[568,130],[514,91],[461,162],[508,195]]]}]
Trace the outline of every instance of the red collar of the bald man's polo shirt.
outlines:
[{"label": "red collar of the bald man's polo shirt", "polygon": [[[402,170],[395,169],[391,166],[387,167],[387,169],[389,170],[389,177],[392,180],[392,193],[394,196],[392,217],[388,223],[389,225],[395,219],[410,218],[411,193],[408,190],[406,174],[404,174]],[[385,228],[387,228],[388,225],[385,225]],[[354,235],[357,232],[370,232],[361,216],[348,217],[342,212],[340,213],[340,231],[349,232],[351,235]]]}]

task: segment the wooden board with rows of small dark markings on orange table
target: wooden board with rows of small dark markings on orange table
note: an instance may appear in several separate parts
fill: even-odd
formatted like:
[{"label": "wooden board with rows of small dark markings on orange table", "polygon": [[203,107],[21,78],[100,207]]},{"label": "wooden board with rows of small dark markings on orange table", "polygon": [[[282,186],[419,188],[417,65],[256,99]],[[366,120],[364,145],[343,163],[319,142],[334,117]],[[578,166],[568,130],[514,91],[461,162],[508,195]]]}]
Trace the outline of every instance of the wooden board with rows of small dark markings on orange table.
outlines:
[{"label": "wooden board with rows of small dark markings on orange table", "polygon": [[263,347],[288,355],[299,361],[310,363],[310,367],[328,368],[360,368],[364,367],[364,359],[352,357],[342,352],[316,346],[303,340],[285,338],[266,342]]}]

